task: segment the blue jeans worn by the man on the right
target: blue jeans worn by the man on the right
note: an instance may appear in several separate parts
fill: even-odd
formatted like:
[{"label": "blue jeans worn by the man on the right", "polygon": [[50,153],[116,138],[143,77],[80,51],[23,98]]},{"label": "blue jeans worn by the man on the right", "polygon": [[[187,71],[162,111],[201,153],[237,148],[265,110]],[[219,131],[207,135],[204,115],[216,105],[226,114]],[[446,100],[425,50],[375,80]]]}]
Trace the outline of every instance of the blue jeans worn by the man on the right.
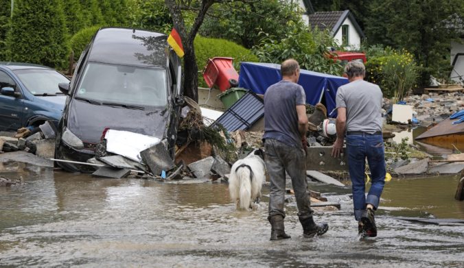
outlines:
[{"label": "blue jeans worn by the man on the right", "polygon": [[[360,221],[366,204],[374,209],[379,206],[380,195],[385,184],[385,156],[382,135],[347,135],[347,156],[349,176],[353,189],[354,217]],[[365,195],[364,170],[366,158],[371,170],[371,188]]]}]

